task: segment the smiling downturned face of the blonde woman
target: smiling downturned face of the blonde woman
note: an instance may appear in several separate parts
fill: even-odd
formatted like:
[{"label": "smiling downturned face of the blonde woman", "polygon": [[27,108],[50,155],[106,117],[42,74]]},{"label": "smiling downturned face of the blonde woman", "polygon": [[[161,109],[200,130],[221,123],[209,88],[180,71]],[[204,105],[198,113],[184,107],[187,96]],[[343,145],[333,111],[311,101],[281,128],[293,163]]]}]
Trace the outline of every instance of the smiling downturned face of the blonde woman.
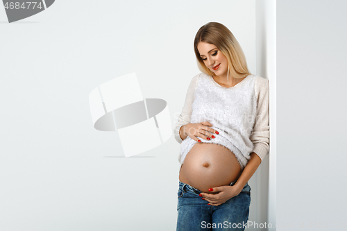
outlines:
[{"label": "smiling downturned face of the blonde woman", "polygon": [[227,74],[228,60],[226,56],[219,51],[217,46],[207,42],[199,42],[197,48],[206,67],[208,67],[208,69],[210,69],[216,76]]}]

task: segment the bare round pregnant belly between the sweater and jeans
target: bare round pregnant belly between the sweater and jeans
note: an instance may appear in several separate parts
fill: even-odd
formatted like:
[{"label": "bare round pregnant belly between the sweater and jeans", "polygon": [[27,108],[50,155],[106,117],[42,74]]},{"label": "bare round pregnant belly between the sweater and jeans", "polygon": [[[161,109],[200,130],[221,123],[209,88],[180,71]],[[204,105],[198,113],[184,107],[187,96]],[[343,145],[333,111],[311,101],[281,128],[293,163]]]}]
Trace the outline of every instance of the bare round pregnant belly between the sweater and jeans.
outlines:
[{"label": "bare round pregnant belly between the sweater and jeans", "polygon": [[210,193],[208,189],[211,187],[229,185],[240,175],[241,166],[228,148],[218,144],[197,143],[185,157],[179,180]]}]

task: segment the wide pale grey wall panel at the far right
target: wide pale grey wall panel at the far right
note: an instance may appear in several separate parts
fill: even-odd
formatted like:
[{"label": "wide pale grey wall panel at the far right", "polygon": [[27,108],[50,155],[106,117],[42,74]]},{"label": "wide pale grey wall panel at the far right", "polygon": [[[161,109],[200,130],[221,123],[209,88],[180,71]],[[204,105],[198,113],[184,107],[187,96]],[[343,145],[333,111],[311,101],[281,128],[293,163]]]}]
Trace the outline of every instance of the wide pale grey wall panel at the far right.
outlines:
[{"label": "wide pale grey wall panel at the far right", "polygon": [[347,229],[346,8],[277,1],[278,230]]}]

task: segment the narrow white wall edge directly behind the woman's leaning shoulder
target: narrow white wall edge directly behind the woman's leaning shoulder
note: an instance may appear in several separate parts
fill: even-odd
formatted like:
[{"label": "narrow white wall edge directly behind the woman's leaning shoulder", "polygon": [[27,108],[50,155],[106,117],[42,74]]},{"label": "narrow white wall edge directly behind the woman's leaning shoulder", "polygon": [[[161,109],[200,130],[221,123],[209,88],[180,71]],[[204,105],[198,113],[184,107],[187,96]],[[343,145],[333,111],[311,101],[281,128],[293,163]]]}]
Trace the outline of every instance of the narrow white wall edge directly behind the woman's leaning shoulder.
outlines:
[{"label": "narrow white wall edge directly behind the woman's leaning shoulder", "polygon": [[270,152],[255,173],[259,226],[250,223],[259,230],[269,226],[266,223],[276,225],[276,0],[256,1],[256,35],[256,73],[269,79],[270,87]]}]

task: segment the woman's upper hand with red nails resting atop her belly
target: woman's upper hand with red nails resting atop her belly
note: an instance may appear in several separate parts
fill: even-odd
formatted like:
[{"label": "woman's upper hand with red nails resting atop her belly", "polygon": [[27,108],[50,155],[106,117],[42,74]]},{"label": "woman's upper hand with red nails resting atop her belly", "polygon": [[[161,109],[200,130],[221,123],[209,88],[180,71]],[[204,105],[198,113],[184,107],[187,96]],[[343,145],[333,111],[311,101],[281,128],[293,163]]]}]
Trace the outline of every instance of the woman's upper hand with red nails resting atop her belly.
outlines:
[{"label": "woman's upper hand with red nails resting atop her belly", "polygon": [[212,124],[205,121],[201,123],[187,123],[185,126],[182,126],[181,129],[183,129],[183,132],[196,142],[201,142],[200,139],[214,139],[214,135],[219,134],[217,130],[209,128],[210,126],[212,126]]}]

